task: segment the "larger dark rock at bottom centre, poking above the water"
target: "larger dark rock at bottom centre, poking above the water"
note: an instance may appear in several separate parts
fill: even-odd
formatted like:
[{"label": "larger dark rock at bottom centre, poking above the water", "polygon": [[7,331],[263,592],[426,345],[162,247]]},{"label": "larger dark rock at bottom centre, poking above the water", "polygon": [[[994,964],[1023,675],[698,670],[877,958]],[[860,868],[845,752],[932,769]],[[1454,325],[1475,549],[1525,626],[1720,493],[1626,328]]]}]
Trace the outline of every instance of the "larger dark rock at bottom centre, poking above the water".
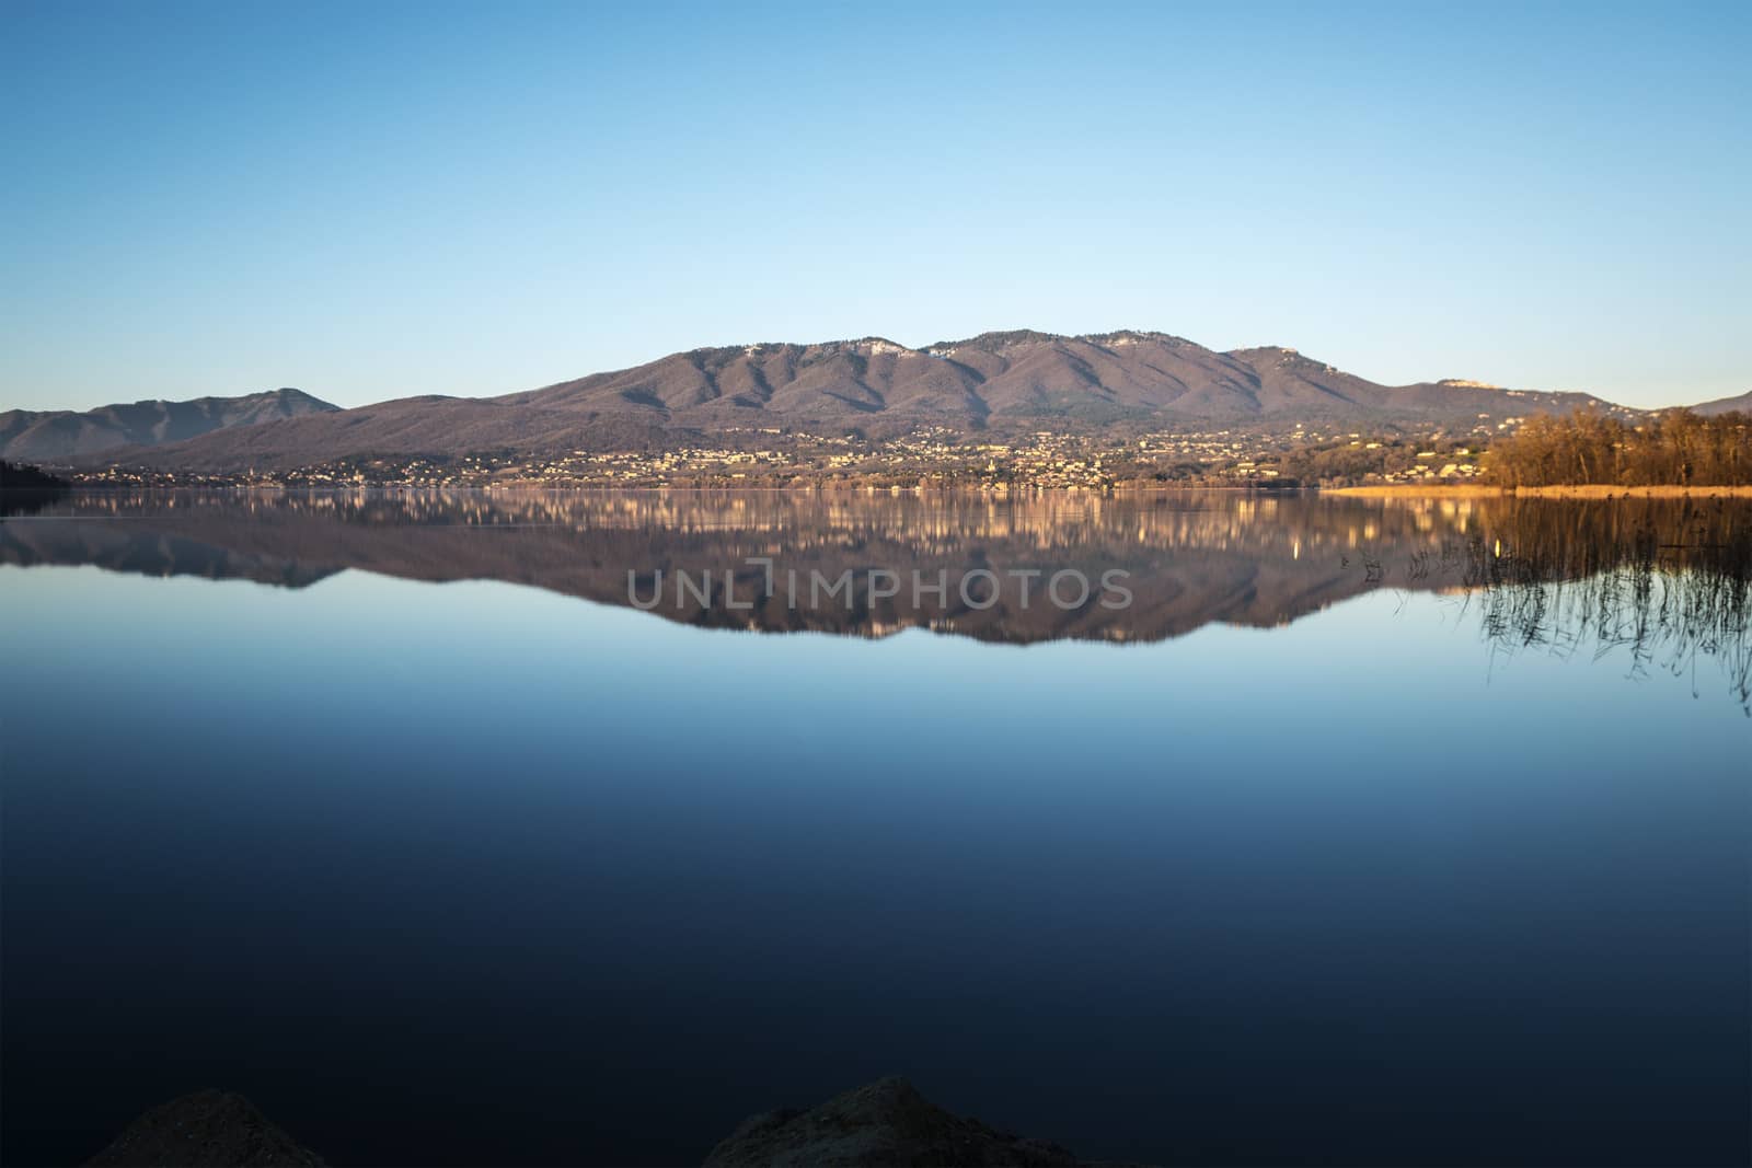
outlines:
[{"label": "larger dark rock at bottom centre, poking above the water", "polygon": [[1044,1140],[997,1131],[978,1119],[951,1115],[906,1079],[878,1079],[816,1108],[752,1115],[711,1149],[708,1168],[804,1168],[809,1164],[1079,1164]]}]

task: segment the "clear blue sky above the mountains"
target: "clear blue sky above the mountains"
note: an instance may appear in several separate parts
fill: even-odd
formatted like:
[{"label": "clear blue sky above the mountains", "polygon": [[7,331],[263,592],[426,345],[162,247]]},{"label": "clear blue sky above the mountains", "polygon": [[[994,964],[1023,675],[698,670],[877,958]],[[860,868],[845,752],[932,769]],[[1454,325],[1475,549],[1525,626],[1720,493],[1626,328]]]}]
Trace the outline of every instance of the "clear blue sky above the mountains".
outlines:
[{"label": "clear blue sky above the mountains", "polygon": [[1745,0],[0,0],[0,408],[1002,327],[1736,394],[1748,77]]}]

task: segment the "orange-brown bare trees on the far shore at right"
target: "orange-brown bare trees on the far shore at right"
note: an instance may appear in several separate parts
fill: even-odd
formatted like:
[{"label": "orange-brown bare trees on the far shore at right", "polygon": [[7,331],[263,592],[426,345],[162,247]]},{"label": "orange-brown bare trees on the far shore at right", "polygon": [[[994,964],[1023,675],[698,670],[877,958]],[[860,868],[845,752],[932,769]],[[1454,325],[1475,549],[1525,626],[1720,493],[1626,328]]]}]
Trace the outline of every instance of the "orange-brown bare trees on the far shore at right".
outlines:
[{"label": "orange-brown bare trees on the far shore at right", "polygon": [[1666,410],[1629,424],[1594,410],[1537,415],[1491,445],[1487,473],[1505,487],[1743,487],[1752,483],[1752,417]]}]

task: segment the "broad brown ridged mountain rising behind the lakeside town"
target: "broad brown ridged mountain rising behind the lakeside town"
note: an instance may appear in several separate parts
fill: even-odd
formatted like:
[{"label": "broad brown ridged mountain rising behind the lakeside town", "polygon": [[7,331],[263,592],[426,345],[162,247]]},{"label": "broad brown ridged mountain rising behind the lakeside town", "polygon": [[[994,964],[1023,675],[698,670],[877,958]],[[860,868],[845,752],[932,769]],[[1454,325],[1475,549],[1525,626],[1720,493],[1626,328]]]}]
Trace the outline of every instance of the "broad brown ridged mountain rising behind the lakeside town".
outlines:
[{"label": "broad brown ridged mountain rising behind the lakeside town", "polygon": [[1293,348],[1216,352],[1167,333],[985,333],[925,348],[872,336],[694,348],[503,398],[401,398],[180,443],[100,447],[102,457],[84,461],[191,471],[291,469],[347,455],[650,450],[729,427],[839,434],[855,426],[881,438],[920,426],[962,433],[1295,422],[1472,426],[1480,417],[1500,422],[1589,405],[1619,410],[1589,394],[1463,380],[1381,385]]}]

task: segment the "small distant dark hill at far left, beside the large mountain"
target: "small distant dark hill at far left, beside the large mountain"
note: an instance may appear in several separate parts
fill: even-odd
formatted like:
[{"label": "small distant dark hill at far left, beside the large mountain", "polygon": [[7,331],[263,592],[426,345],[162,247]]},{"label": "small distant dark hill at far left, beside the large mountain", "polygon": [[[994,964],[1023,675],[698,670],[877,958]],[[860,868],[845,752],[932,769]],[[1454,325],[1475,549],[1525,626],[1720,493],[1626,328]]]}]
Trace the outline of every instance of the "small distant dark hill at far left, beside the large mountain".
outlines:
[{"label": "small distant dark hill at far left, beside the large mountain", "polygon": [[307,392],[275,389],[245,398],[194,401],[137,401],[72,410],[7,410],[0,413],[0,455],[28,461],[65,461],[123,447],[158,447],[214,431],[258,426],[275,419],[338,412]]}]

